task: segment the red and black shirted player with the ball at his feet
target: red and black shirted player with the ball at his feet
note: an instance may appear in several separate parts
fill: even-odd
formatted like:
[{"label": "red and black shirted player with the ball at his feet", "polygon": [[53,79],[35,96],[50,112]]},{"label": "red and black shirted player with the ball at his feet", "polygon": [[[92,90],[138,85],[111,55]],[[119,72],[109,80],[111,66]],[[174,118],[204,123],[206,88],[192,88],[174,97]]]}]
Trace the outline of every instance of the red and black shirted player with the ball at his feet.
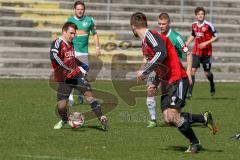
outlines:
[{"label": "red and black shirted player with the ball at his feet", "polygon": [[91,105],[92,111],[100,120],[104,130],[107,129],[107,118],[101,111],[101,105],[94,98],[91,86],[85,79],[84,65],[75,58],[72,39],[76,34],[77,26],[66,22],[62,27],[62,35],[52,42],[50,59],[54,70],[54,80],[58,82],[57,109],[61,120],[55,124],[54,129],[61,129],[68,121],[67,102],[73,88],[82,93]]}]

